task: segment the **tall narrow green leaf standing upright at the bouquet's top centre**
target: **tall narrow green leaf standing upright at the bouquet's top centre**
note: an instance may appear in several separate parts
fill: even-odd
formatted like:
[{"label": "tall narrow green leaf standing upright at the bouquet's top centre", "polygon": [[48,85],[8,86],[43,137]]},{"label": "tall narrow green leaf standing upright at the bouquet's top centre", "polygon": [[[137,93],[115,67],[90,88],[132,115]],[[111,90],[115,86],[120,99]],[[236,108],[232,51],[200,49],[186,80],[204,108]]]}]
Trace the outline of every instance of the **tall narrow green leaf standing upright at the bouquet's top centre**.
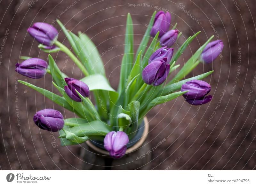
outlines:
[{"label": "tall narrow green leaf standing upright at the bouquet's top centre", "polygon": [[126,20],[124,56],[122,59],[122,65],[120,70],[120,80],[119,80],[119,86],[118,86],[119,94],[123,91],[125,81],[132,70],[132,62],[133,62],[133,24],[132,24],[132,17],[130,13],[128,13],[127,20]]}]

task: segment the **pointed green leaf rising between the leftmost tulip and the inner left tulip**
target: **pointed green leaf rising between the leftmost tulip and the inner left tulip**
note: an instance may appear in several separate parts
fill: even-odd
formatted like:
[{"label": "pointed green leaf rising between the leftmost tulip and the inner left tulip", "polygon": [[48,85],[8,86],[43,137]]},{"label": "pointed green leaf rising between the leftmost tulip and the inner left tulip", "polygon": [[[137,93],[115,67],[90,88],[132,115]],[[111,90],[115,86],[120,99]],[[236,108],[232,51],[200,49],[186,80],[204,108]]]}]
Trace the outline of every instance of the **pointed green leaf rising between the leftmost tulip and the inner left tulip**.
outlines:
[{"label": "pointed green leaf rising between the leftmost tulip and the inner left tulip", "polygon": [[64,78],[67,77],[64,73],[62,73],[55,63],[54,59],[52,56],[49,54],[48,56],[49,59],[49,66],[50,66],[50,71],[52,74],[52,78],[54,82],[61,88],[63,88],[66,85],[66,82],[64,81]]}]

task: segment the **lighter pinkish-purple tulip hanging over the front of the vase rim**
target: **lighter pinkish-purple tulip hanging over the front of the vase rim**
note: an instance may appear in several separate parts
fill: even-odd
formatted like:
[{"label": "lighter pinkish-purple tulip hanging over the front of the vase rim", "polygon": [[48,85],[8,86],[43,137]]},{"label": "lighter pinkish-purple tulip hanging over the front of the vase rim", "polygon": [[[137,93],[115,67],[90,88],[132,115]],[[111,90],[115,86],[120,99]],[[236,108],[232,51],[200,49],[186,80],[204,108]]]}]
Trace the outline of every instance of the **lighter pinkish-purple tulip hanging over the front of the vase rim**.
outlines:
[{"label": "lighter pinkish-purple tulip hanging over the front of the vase rim", "polygon": [[124,156],[127,150],[129,138],[123,131],[109,132],[104,138],[104,148],[109,151],[110,156],[118,159]]}]

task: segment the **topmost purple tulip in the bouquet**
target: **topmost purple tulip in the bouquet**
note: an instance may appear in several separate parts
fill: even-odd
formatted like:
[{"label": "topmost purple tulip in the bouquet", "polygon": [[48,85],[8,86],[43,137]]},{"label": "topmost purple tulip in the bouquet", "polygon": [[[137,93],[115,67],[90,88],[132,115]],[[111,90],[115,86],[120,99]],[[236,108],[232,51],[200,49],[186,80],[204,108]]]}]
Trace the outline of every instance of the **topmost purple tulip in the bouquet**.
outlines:
[{"label": "topmost purple tulip in the bouquet", "polygon": [[156,17],[154,20],[153,27],[150,31],[150,35],[155,37],[156,33],[159,31],[159,37],[162,37],[165,32],[170,27],[171,23],[171,14],[169,12],[164,13],[163,11],[159,11],[156,13]]}]

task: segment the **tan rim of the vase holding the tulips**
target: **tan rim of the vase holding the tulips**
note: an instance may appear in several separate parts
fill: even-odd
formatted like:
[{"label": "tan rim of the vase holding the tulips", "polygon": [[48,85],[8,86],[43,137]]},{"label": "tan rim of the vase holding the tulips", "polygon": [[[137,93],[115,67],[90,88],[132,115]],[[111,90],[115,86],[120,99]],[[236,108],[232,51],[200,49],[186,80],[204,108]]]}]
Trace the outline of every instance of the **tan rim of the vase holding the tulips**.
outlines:
[{"label": "tan rim of the vase holding the tulips", "polygon": [[[144,125],[144,131],[143,131],[143,133],[142,133],[142,136],[141,136],[140,140],[138,140],[137,143],[135,143],[134,145],[132,145],[131,147],[129,147],[129,148],[126,150],[125,154],[131,153],[131,152],[137,150],[137,149],[140,148],[140,146],[145,142],[145,140],[146,140],[146,138],[147,138],[147,136],[148,136],[149,124],[148,124],[148,118],[147,118],[146,116],[143,118],[143,120],[144,120],[145,125]],[[86,143],[89,147],[91,147],[94,151],[99,152],[99,153],[101,153],[101,154],[103,154],[103,155],[108,155],[108,156],[109,156],[109,152],[108,152],[108,151],[103,150],[103,149],[97,147],[97,146],[94,145],[91,141],[87,140],[85,143]]]}]

